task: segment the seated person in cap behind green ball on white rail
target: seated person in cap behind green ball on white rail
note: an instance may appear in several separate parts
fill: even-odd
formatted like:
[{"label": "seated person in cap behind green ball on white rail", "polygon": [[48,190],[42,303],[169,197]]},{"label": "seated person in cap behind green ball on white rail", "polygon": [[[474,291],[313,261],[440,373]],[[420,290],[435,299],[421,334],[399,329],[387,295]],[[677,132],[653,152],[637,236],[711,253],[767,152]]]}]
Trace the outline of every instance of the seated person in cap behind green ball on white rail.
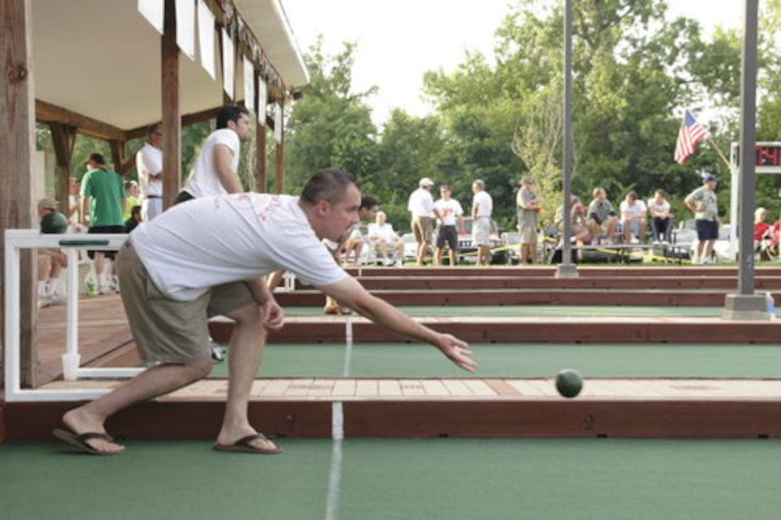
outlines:
[{"label": "seated person in cap behind green ball on white rail", "polygon": [[[57,211],[57,202],[51,198],[38,201],[38,217],[41,219],[41,233],[65,233],[68,220]],[[59,292],[59,277],[62,268],[68,265],[68,257],[59,248],[37,249],[37,293],[38,305],[45,307],[62,303],[64,298]]]}]

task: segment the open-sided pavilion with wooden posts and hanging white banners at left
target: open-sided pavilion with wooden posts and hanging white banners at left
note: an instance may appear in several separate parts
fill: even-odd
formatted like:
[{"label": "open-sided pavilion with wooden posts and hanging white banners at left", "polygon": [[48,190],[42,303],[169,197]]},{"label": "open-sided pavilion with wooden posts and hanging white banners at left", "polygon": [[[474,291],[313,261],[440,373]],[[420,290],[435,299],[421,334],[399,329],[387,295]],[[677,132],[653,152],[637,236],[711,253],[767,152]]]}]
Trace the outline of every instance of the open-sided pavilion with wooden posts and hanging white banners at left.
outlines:
[{"label": "open-sided pavilion with wooden posts and hanging white banners at left", "polygon": [[[4,233],[37,227],[36,123],[52,130],[60,201],[68,200],[77,134],[108,141],[115,169],[125,173],[134,165],[127,142],[161,123],[167,207],[180,190],[182,126],[243,103],[258,112],[257,186],[267,185],[266,131],[276,126],[276,191],[284,190],[281,114],[308,73],[281,0],[0,0],[0,52]],[[203,65],[209,61],[214,77]],[[5,251],[0,255],[5,265]],[[32,258],[23,257],[21,272],[23,379],[30,386],[37,318]]]}]

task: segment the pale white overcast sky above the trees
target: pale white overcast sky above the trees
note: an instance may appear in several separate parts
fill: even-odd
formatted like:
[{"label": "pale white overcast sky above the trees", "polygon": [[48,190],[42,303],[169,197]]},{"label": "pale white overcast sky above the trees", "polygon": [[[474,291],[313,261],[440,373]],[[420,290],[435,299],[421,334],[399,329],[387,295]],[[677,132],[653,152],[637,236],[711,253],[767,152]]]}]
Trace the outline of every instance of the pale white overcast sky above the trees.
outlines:
[{"label": "pale white overcast sky above the trees", "polygon": [[[381,124],[391,108],[423,116],[423,73],[451,72],[465,51],[491,55],[494,31],[508,13],[508,0],[281,0],[298,39],[307,52],[318,34],[325,52],[335,54],[343,41],[358,44],[353,68],[354,91],[377,85],[369,98],[373,119]],[[740,27],[743,0],[670,0],[670,9],[715,24]]]}]

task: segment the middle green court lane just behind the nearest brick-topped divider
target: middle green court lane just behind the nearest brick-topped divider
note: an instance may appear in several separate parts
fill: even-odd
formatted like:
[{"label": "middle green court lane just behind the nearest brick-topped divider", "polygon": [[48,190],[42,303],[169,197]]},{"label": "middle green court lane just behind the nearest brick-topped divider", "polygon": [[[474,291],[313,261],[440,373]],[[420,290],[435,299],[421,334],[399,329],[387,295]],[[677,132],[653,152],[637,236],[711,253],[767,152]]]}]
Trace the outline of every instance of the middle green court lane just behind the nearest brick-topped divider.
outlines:
[{"label": "middle green court lane just behind the nearest brick-topped divider", "polygon": [[[781,346],[740,344],[473,344],[470,374],[426,344],[354,344],[351,377],[541,377],[573,368],[586,377],[781,377]],[[261,377],[339,377],[344,344],[270,344]],[[211,377],[227,376],[227,362]]]}]

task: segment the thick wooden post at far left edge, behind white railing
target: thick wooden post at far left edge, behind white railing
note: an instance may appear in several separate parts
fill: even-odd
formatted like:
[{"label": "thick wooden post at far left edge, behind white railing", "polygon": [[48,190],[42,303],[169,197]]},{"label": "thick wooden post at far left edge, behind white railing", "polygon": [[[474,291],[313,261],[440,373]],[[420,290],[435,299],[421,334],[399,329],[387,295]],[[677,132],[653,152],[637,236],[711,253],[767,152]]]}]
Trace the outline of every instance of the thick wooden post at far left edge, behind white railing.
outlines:
[{"label": "thick wooden post at far left edge, behind white railing", "polygon": [[[35,89],[29,0],[0,0],[0,232],[37,226],[34,201]],[[35,385],[35,324],[37,320],[34,251],[22,255],[21,375],[23,386]],[[5,269],[5,248],[0,248]],[[3,271],[5,272],[5,271]],[[2,290],[5,294],[5,276]],[[0,303],[5,337],[5,298]],[[0,362],[2,365],[2,362]],[[0,379],[3,379],[0,372]]]}]

